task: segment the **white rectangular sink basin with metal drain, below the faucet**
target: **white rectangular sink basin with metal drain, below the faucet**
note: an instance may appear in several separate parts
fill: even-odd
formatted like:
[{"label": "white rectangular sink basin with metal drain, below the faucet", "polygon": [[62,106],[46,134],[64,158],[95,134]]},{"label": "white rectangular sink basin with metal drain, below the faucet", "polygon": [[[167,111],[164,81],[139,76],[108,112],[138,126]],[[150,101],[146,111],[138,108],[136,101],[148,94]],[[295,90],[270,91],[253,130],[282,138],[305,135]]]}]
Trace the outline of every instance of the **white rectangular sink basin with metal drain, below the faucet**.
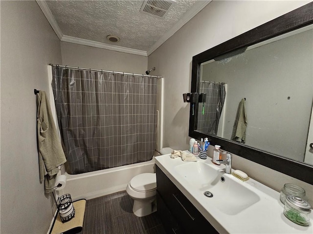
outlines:
[{"label": "white rectangular sink basin with metal drain, below the faucet", "polygon": [[[193,191],[202,194],[205,191],[211,192],[213,197],[206,197],[207,202],[224,214],[236,215],[260,200],[243,181],[225,174],[224,166],[221,167],[222,169],[216,169],[198,161],[178,165],[175,171],[194,188]],[[221,180],[222,176],[224,182]]]}]

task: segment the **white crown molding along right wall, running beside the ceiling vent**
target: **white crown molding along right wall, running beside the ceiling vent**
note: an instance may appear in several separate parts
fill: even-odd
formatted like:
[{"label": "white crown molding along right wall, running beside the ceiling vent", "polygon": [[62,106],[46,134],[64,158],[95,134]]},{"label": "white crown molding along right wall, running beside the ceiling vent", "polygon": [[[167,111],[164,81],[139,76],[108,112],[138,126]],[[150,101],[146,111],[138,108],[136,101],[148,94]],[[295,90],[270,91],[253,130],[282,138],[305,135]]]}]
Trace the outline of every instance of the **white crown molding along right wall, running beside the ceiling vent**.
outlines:
[{"label": "white crown molding along right wall, running beside the ceiling vent", "polygon": [[195,15],[197,15],[207,4],[212,0],[199,0],[194,6],[184,14],[181,19],[174,24],[174,26],[167,31],[156,43],[149,48],[147,55],[151,55],[159,46],[161,46],[167,39],[172,37],[182,26],[184,26],[189,20],[191,20]]}]

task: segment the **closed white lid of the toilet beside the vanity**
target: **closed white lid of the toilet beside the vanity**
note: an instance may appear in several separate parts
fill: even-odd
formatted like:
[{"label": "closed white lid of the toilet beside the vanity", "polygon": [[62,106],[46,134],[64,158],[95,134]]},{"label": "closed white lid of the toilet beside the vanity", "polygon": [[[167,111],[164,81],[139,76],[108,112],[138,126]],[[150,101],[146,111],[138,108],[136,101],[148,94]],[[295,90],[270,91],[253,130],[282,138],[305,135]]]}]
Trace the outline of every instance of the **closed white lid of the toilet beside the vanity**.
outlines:
[{"label": "closed white lid of the toilet beside the vanity", "polygon": [[156,190],[156,173],[142,173],[131,179],[131,187],[138,192]]}]

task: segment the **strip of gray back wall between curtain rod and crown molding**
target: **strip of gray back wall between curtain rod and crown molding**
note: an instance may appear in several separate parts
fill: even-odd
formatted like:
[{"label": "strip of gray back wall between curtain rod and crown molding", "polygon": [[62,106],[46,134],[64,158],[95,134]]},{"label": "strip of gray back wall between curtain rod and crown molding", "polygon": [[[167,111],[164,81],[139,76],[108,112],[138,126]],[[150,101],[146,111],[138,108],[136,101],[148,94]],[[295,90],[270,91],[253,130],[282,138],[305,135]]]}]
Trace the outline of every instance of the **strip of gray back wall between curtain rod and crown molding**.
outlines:
[{"label": "strip of gray back wall between curtain rod and crown molding", "polygon": [[145,74],[148,57],[61,41],[63,65]]}]

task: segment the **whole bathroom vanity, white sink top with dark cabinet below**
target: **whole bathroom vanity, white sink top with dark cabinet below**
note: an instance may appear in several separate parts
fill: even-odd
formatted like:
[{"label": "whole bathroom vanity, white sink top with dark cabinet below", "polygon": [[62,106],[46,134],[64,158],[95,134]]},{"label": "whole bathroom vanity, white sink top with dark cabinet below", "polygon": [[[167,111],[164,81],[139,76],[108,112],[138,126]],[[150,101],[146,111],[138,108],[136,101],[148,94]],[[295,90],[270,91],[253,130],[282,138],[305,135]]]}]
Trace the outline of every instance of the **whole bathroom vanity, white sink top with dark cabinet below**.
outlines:
[{"label": "whole bathroom vanity, white sink top with dark cabinet below", "polygon": [[157,212],[167,233],[313,233],[312,213],[309,226],[297,225],[283,214],[279,192],[197,158],[156,157]]}]

